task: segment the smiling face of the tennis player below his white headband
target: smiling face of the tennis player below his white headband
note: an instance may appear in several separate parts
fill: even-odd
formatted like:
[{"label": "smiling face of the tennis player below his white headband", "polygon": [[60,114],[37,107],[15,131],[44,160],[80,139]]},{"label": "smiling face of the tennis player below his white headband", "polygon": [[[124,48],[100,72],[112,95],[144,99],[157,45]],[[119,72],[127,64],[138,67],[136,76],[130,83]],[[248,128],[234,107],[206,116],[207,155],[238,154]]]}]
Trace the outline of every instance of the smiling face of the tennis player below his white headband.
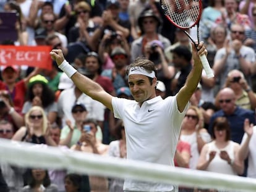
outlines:
[{"label": "smiling face of the tennis player below his white headband", "polygon": [[142,105],[144,101],[154,98],[156,96],[156,81],[156,78],[154,78],[151,85],[150,80],[145,75],[129,75],[130,93],[132,93],[135,101],[139,102],[140,105]]}]

